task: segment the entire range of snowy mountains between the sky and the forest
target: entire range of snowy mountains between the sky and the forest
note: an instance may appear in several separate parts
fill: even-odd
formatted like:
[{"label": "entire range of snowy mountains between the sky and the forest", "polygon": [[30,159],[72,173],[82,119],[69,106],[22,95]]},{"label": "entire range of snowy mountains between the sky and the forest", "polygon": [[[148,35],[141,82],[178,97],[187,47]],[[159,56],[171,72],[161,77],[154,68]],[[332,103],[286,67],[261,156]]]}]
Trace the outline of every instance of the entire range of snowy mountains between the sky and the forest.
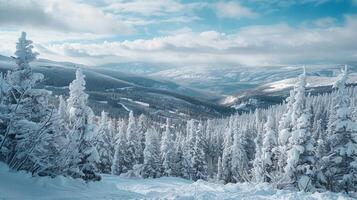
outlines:
[{"label": "entire range of snowy mountains between the sky and the forest", "polygon": [[[13,66],[0,56],[0,71]],[[132,67],[130,67],[132,66]],[[356,83],[357,65],[350,65],[351,83]],[[154,67],[145,63],[108,64],[89,67],[69,62],[39,59],[34,71],[45,74],[44,86],[56,95],[67,95],[75,69],[81,67],[87,80],[90,104],[113,116],[128,111],[152,117],[209,118],[281,103],[301,74],[293,67]],[[339,65],[307,67],[308,92],[329,92]]]}]

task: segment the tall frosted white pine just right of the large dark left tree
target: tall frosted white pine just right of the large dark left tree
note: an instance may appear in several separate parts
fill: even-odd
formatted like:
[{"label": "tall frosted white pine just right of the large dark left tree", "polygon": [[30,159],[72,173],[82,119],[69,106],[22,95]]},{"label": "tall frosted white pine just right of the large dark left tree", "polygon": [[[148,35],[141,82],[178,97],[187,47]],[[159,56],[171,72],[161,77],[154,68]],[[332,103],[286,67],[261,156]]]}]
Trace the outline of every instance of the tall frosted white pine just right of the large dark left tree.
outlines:
[{"label": "tall frosted white pine just right of the large dark left tree", "polygon": [[87,106],[88,94],[84,91],[84,78],[82,71],[77,69],[76,79],[69,85],[69,98],[67,99],[69,124],[72,132],[71,140],[76,142],[73,145],[73,153],[78,152],[79,155],[77,163],[79,176],[86,181],[100,180],[100,176],[95,173],[99,156],[94,146],[96,133],[93,122],[94,114]]}]

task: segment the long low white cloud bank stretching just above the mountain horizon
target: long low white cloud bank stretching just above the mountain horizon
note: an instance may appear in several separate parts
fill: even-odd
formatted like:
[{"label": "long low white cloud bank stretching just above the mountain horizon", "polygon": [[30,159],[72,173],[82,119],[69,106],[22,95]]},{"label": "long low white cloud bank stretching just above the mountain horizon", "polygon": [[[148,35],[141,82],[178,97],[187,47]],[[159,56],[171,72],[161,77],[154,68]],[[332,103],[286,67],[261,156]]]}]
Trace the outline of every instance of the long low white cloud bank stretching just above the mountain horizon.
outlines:
[{"label": "long low white cloud bank stretching just above the mountain horizon", "polygon": [[[357,59],[357,16],[335,26],[249,26],[236,33],[178,30],[152,39],[48,44],[42,56],[88,65],[147,62],[170,66],[340,64]],[[41,53],[41,52],[40,52]]]}]

